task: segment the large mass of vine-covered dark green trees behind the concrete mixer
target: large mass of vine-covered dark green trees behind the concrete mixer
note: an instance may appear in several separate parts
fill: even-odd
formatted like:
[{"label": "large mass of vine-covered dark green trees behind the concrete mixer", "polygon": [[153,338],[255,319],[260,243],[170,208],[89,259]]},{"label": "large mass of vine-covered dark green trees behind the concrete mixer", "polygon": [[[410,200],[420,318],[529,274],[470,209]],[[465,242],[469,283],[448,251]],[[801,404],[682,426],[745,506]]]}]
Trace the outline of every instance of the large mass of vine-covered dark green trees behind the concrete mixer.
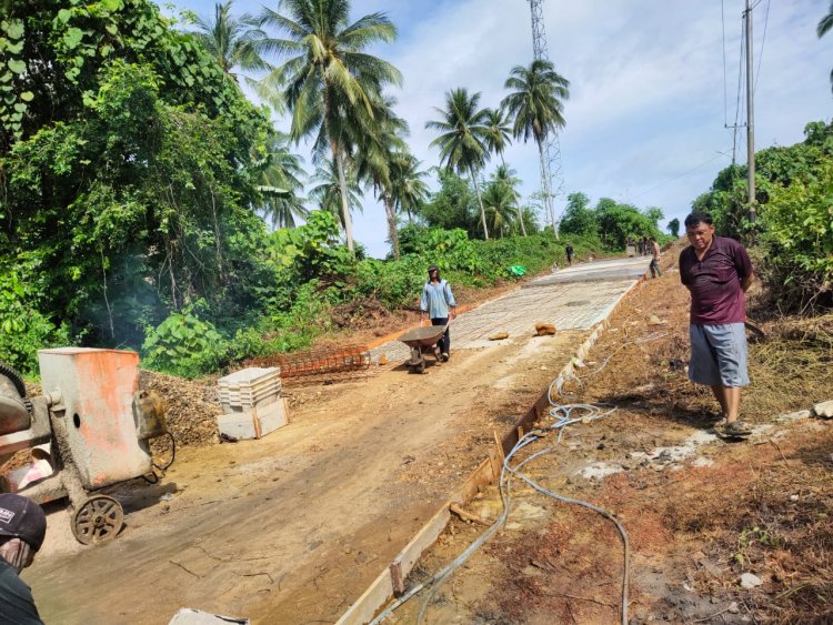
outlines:
[{"label": "large mass of vine-covered dark green trees behind the concrete mixer", "polygon": [[30,314],[0,357],[30,370],[9,352],[32,333],[139,345],[199,299],[238,314],[265,236],[250,208],[265,118],[147,0],[7,4],[0,289]]}]

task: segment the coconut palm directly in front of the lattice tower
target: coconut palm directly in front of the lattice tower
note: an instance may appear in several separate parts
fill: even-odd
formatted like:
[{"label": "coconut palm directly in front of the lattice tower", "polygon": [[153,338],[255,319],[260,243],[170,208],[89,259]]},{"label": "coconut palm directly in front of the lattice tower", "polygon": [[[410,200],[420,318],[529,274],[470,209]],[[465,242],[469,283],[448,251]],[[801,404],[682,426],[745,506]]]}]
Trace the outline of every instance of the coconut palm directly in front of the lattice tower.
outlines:
[{"label": "coconut palm directly in front of the lattice tower", "polygon": [[512,133],[515,139],[523,137],[525,143],[532,137],[538,143],[538,153],[541,159],[541,187],[550,208],[552,228],[558,236],[544,143],[551,132],[556,132],[565,124],[562,111],[564,110],[563,101],[570,98],[570,81],[559,74],[550,61],[535,59],[529,68],[522,65],[512,68],[503,87],[511,90],[511,93],[501,102],[501,107],[514,118]]}]

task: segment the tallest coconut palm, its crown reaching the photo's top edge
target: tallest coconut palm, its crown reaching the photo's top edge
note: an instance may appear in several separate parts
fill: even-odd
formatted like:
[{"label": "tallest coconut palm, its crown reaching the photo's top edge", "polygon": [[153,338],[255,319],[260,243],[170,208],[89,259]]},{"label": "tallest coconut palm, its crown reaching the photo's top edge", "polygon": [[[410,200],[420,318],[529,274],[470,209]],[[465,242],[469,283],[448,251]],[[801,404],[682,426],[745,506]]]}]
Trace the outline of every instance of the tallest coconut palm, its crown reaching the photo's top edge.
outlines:
[{"label": "tallest coconut palm, its crown reaching the photo's top edge", "polygon": [[313,160],[329,148],[341,189],[347,244],[353,251],[345,174],[350,140],[361,120],[373,117],[372,98],[385,84],[402,80],[397,68],[364,50],[392,41],[397,29],[384,13],[349,23],[349,0],[283,0],[280,9],[284,13],[264,8],[261,14],[262,26],[277,29],[283,38],[268,38],[259,49],[289,58],[268,83],[283,88],[292,111],[292,139],[314,137]]}]

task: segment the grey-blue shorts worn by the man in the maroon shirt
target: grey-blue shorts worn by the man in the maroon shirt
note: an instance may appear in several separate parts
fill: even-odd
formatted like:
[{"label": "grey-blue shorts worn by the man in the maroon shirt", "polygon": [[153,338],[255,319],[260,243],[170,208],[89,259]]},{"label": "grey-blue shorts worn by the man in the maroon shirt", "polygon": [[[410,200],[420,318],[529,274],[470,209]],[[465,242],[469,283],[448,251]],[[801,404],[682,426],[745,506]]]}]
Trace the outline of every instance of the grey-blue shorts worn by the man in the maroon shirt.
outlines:
[{"label": "grey-blue shorts worn by the man in the maroon shirt", "polygon": [[746,327],[743,323],[692,323],[689,380],[713,386],[747,386]]}]

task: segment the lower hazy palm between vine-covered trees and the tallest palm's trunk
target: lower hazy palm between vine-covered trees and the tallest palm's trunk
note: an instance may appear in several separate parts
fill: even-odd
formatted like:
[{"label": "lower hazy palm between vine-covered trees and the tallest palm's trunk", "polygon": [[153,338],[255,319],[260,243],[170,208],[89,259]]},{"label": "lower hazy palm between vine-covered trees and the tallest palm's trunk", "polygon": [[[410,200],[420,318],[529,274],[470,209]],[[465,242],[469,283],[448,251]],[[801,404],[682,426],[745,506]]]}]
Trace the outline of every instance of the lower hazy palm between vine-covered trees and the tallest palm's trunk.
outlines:
[{"label": "lower hazy palm between vine-covered trees and the tallest palm's trunk", "polygon": [[303,189],[304,175],[301,158],[289,150],[289,137],[274,131],[267,139],[268,153],[258,180],[262,201],[258,209],[275,228],[295,228],[297,219],[304,219],[309,211]]}]

